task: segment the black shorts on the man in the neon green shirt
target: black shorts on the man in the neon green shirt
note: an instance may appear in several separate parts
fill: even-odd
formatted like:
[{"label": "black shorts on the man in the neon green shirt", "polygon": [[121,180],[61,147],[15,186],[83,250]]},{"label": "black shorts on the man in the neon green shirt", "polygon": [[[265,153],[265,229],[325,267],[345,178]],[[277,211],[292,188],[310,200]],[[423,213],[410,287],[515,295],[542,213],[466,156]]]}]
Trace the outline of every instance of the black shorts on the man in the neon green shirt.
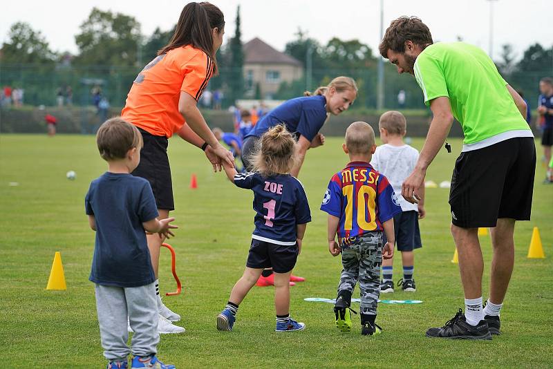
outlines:
[{"label": "black shorts on the man in the neon green shirt", "polygon": [[534,138],[511,138],[461,153],[453,169],[451,223],[496,227],[498,218],[529,220],[536,170]]}]

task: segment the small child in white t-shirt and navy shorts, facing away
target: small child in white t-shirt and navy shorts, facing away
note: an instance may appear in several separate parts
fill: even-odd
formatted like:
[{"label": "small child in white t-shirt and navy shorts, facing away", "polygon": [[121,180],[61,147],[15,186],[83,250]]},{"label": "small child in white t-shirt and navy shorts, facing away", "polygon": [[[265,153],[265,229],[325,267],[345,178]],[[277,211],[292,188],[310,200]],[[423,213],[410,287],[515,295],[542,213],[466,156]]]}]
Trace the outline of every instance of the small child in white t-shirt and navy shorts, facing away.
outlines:
[{"label": "small child in white t-shirt and navy shorts, facing away", "polygon": [[[402,253],[403,278],[397,282],[405,292],[415,292],[414,249],[420,249],[419,219],[424,218],[424,186],[417,191],[420,200],[418,204],[407,202],[401,195],[402,183],[415,169],[419,158],[417,149],[404,144],[403,137],[407,131],[407,122],[399,111],[388,111],[380,116],[378,122],[380,140],[384,143],[378,146],[371,164],[384,174],[390,181],[402,207],[402,213],[393,218],[395,243]],[[380,292],[393,292],[393,258],[382,262],[382,283]]]}]

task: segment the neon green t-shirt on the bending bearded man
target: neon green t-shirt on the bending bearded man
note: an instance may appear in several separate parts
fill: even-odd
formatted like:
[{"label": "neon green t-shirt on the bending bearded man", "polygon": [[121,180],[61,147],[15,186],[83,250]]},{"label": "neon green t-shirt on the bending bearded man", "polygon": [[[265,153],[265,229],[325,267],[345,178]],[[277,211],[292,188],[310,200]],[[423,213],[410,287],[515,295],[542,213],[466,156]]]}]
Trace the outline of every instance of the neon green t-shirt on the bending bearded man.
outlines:
[{"label": "neon green t-shirt on the bending bearded man", "polygon": [[427,46],[415,61],[415,79],[430,106],[436,97],[449,97],[453,116],[462,126],[464,144],[499,133],[529,130],[493,61],[464,42]]}]

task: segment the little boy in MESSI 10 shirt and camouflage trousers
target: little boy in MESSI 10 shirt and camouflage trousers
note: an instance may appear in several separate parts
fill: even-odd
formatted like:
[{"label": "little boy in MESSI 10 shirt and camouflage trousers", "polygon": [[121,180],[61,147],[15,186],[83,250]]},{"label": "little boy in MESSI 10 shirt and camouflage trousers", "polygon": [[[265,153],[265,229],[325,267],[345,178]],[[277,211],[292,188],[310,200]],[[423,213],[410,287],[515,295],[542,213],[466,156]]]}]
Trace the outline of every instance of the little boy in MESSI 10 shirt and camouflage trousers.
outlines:
[{"label": "little boy in MESSI 10 shirt and camouflage trousers", "polygon": [[[392,186],[371,167],[375,153],[375,132],[365,122],[350,124],[342,144],[350,162],[330,180],[321,210],[328,213],[328,250],[341,252],[342,272],[334,305],[336,326],[351,330],[351,294],[359,281],[361,291],[361,333],[379,334],[375,324],[380,292],[382,258],[393,256],[393,216],[402,208]],[[382,231],[388,242],[382,247]],[[338,241],[336,242],[336,234]]]}]

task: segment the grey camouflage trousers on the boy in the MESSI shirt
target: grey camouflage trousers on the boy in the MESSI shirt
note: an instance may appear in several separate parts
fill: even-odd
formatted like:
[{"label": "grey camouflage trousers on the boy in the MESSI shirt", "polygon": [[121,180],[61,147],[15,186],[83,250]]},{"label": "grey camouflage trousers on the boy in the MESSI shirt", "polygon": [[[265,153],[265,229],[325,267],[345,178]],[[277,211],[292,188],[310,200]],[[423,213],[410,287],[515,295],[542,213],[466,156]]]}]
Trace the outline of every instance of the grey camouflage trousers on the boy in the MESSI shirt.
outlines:
[{"label": "grey camouflage trousers on the boy in the MESSI shirt", "polygon": [[359,281],[361,313],[376,314],[380,294],[380,265],[382,265],[382,232],[368,232],[358,236],[351,245],[342,245],[340,291],[353,292]]}]

